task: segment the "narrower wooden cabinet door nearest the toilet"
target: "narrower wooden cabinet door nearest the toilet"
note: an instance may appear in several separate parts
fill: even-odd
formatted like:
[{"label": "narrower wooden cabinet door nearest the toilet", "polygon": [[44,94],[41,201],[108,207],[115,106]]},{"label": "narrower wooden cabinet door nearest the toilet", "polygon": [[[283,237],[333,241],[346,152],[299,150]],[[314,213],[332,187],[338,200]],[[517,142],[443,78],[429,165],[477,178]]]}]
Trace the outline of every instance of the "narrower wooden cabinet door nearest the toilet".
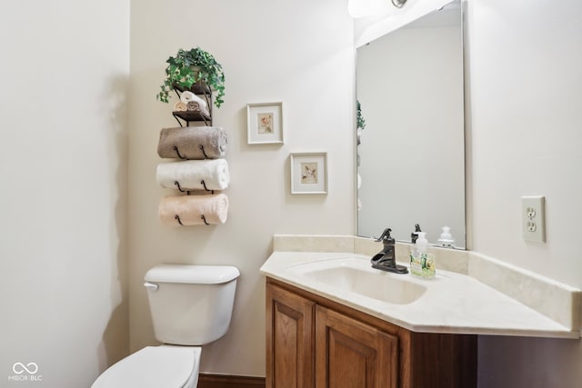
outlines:
[{"label": "narrower wooden cabinet door nearest the toilet", "polygon": [[266,386],[314,386],[315,303],[266,284]]}]

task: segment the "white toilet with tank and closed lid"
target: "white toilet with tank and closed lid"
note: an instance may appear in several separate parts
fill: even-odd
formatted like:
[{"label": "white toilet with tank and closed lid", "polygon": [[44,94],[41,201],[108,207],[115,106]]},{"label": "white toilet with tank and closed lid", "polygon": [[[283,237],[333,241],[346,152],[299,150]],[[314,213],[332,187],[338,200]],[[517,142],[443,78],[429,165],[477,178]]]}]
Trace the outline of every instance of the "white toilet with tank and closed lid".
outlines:
[{"label": "white toilet with tank and closed lid", "polygon": [[226,334],[238,269],[162,264],[144,284],[161,345],[146,346],[109,367],[91,388],[196,388],[201,346]]}]

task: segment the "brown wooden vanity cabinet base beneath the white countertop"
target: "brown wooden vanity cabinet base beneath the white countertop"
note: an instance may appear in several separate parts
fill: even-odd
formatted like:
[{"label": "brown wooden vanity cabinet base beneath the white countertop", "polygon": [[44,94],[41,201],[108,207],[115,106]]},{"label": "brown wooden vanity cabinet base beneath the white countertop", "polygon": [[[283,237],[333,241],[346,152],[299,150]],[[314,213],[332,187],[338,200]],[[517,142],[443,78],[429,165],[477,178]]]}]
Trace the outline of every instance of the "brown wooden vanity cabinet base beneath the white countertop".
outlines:
[{"label": "brown wooden vanity cabinet base beneath the white countertop", "polygon": [[410,332],[267,278],[266,387],[477,387],[477,336]]}]

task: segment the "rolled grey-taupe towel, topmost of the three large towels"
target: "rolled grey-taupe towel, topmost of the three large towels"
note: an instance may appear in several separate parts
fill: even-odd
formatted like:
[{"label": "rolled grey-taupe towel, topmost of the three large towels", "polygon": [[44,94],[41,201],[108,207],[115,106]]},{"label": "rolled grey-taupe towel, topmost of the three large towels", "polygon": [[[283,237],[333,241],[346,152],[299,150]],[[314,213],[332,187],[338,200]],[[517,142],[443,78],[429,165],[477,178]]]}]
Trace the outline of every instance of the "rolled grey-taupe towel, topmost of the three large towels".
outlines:
[{"label": "rolled grey-taupe towel, topmost of the three large towels", "polygon": [[162,158],[218,159],[226,154],[228,137],[219,126],[164,128],[157,154]]}]

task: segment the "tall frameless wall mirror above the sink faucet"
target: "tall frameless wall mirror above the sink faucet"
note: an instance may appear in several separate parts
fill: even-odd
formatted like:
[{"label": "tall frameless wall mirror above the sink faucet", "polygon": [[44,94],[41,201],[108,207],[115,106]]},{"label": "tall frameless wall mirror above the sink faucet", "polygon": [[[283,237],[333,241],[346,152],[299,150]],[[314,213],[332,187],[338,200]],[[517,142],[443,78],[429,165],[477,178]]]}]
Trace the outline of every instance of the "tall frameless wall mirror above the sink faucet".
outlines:
[{"label": "tall frameless wall mirror above the sink faucet", "polygon": [[462,17],[454,1],[356,49],[360,236],[448,226],[466,246]]}]

